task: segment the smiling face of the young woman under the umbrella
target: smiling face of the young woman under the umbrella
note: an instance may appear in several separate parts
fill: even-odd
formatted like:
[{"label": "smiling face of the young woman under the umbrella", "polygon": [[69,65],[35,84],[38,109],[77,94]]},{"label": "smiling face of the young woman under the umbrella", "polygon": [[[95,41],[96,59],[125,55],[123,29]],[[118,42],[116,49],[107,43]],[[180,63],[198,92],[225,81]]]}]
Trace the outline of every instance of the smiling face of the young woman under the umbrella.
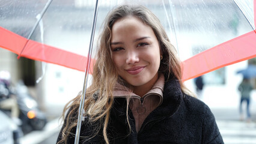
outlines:
[{"label": "smiling face of the young woman under the umbrella", "polygon": [[148,89],[158,79],[160,48],[153,29],[133,16],[112,26],[111,57],[118,74],[134,89]]}]

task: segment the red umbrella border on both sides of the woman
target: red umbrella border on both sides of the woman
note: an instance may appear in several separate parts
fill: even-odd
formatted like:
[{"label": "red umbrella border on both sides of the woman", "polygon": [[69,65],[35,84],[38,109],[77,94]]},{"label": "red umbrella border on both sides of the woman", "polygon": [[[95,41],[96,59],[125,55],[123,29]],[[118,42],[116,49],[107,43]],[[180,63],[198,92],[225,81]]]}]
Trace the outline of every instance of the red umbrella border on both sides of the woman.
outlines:
[{"label": "red umbrella border on both sides of the woman", "polygon": [[[256,27],[256,0],[254,0],[254,25]],[[26,42],[28,42],[26,44]],[[20,55],[25,46],[25,50]],[[87,57],[78,55],[56,47],[47,46],[36,41],[28,40],[20,35],[14,34],[0,27],[0,47],[10,50],[17,55],[38,61],[62,65],[79,71],[85,71]],[[183,81],[193,79],[210,71],[227,65],[235,64],[246,59],[256,57],[256,31],[240,35],[218,46],[212,47],[204,52],[182,62]],[[93,63],[94,63],[93,59]],[[91,64],[90,73],[93,70]]]}]

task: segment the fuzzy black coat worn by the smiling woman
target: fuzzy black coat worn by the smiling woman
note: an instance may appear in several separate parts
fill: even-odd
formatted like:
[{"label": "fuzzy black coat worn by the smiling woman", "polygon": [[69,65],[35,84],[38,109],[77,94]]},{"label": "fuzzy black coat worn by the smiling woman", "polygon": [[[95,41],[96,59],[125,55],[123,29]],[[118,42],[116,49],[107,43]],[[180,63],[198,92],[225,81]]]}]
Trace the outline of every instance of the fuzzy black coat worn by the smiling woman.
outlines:
[{"label": "fuzzy black coat worn by the smiling woman", "polygon": [[[209,107],[197,98],[183,94],[175,80],[165,83],[163,103],[148,115],[138,133],[130,110],[129,123],[131,130],[126,118],[126,99],[115,98],[108,125],[110,143],[224,143]],[[80,143],[105,143],[102,129],[93,135],[97,126],[85,118]],[[72,133],[76,133],[76,128]],[[88,140],[84,136],[94,137]],[[73,144],[74,141],[75,136],[70,136],[68,143]]]}]

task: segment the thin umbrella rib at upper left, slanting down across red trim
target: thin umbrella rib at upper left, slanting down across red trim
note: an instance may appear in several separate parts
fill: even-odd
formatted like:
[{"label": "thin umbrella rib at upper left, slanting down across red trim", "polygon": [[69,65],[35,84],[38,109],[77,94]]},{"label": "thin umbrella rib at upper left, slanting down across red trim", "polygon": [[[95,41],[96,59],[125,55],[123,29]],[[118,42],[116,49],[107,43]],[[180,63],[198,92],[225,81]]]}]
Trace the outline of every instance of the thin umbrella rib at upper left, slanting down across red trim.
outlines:
[{"label": "thin umbrella rib at upper left, slanting down across red trim", "polygon": [[23,47],[23,49],[22,49],[21,52],[19,53],[19,56],[17,57],[18,59],[19,59],[20,56],[22,55],[22,52],[23,52],[23,50],[25,49],[26,45],[28,44],[28,41],[29,41],[29,39],[31,38],[32,34],[34,34],[35,28],[37,28],[37,26],[38,26],[40,20],[42,19],[44,13],[45,13],[46,10],[48,9],[50,3],[52,3],[52,0],[49,0],[49,1],[46,3],[46,5],[44,6],[43,11],[41,11],[41,14],[40,14],[39,18],[37,19],[37,22],[35,23],[34,27],[32,28],[31,32],[30,32],[29,35],[28,35],[28,38],[27,38],[28,40],[26,41],[25,46]]}]

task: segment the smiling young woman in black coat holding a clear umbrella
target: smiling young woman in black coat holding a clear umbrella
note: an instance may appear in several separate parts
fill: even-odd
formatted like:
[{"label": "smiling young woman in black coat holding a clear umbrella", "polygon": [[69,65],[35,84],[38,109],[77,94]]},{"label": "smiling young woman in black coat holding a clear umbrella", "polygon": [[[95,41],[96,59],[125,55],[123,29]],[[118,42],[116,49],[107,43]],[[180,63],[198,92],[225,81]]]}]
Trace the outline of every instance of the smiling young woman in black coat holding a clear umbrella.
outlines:
[{"label": "smiling young woman in black coat holding a clear umbrella", "polygon": [[[188,95],[180,64],[150,10],[121,5],[109,12],[80,143],[223,143],[209,107]],[[64,109],[57,143],[74,143],[80,99]]]}]

